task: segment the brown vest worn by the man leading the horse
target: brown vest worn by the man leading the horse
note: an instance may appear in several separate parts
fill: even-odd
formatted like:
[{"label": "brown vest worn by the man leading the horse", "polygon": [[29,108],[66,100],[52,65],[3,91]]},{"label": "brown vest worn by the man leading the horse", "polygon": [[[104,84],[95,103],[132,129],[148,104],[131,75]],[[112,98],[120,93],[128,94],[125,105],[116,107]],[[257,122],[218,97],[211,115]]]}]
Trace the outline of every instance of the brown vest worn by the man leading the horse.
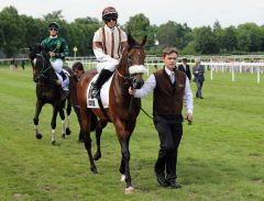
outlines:
[{"label": "brown vest worn by the man leading the horse", "polygon": [[165,69],[154,72],[156,87],[154,89],[154,115],[182,115],[186,75],[175,71],[175,82],[172,83]]}]

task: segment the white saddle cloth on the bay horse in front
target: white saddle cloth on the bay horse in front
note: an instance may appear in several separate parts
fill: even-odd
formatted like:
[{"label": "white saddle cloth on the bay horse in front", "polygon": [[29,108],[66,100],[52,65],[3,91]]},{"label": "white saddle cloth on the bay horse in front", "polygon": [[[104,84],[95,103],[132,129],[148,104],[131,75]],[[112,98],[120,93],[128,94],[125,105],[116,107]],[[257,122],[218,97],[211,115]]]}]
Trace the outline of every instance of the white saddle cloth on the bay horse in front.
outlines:
[{"label": "white saddle cloth on the bay horse in front", "polygon": [[[94,97],[91,94],[91,83],[94,83],[98,78],[98,74],[91,79],[90,83],[88,85],[87,88],[87,108],[94,108],[94,109],[99,109],[99,103],[96,97]],[[108,81],[106,81],[100,90],[100,97],[101,97],[101,102],[103,108],[108,108],[109,105],[109,89],[110,89],[110,85],[112,81],[113,75],[110,77],[110,79],[108,79]]]}]

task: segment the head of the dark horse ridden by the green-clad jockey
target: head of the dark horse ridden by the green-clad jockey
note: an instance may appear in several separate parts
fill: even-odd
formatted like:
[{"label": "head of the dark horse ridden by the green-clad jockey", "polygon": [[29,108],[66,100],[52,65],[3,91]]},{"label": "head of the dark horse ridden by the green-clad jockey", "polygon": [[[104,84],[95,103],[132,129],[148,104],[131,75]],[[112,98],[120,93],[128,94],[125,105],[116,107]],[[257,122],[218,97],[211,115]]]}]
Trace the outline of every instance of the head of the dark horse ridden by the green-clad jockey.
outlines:
[{"label": "head of the dark horse ridden by the green-clad jockey", "polygon": [[40,79],[40,75],[42,74],[46,65],[46,62],[42,55],[43,46],[40,43],[35,43],[33,45],[30,45],[29,48],[29,57],[33,69],[33,80],[37,82]]}]

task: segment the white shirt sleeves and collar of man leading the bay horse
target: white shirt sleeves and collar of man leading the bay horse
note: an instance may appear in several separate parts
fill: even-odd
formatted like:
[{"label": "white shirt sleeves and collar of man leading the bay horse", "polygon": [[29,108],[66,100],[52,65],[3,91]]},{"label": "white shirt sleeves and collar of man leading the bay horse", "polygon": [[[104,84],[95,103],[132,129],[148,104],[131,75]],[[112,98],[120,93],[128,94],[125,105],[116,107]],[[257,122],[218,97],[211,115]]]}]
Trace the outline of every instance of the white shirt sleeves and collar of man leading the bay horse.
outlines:
[{"label": "white shirt sleeves and collar of man leading the bay horse", "polygon": [[[166,67],[165,67],[165,71],[168,76],[170,75],[170,70],[168,70]],[[155,76],[152,74],[148,77],[148,79],[144,82],[143,87],[141,89],[135,90],[134,97],[135,98],[145,97],[151,91],[153,91],[155,89],[155,87],[156,87],[156,79],[155,79]],[[189,79],[187,77],[186,77],[186,82],[185,82],[184,103],[185,103],[185,108],[186,108],[187,112],[193,113],[193,111],[194,111],[193,92],[190,89]]]}]

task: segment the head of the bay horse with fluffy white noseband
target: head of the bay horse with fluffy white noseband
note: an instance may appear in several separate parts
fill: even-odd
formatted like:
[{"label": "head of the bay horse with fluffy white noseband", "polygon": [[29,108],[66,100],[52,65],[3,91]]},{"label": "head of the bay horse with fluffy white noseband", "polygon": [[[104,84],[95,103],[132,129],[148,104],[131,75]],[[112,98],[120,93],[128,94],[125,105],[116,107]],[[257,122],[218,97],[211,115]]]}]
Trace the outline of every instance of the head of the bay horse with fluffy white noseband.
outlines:
[{"label": "head of the bay horse with fluffy white noseband", "polygon": [[141,44],[135,42],[135,40],[129,34],[128,35],[128,47],[122,54],[122,59],[119,65],[119,71],[122,75],[129,75],[131,86],[135,89],[140,89],[143,83],[143,74],[146,72],[144,67],[145,52],[144,45],[146,42],[146,36],[144,36]]}]

